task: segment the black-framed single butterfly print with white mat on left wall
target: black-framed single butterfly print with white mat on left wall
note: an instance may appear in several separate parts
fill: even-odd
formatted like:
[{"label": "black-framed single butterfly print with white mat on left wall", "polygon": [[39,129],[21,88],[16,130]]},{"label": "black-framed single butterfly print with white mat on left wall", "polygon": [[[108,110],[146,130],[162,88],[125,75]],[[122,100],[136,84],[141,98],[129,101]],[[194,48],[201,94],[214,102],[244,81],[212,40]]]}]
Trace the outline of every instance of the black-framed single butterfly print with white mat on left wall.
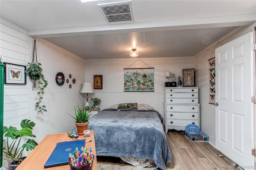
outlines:
[{"label": "black-framed single butterfly print with white mat on left wall", "polygon": [[26,66],[4,63],[4,84],[26,84]]}]

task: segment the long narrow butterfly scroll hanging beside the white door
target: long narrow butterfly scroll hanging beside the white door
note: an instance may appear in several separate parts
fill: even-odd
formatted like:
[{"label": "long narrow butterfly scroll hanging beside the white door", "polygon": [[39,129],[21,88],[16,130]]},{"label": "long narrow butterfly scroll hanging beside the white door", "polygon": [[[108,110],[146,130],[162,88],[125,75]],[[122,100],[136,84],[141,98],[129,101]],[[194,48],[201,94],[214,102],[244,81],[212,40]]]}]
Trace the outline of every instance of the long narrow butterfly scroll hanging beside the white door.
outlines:
[{"label": "long narrow butterfly scroll hanging beside the white door", "polygon": [[209,61],[209,103],[215,103],[215,57]]}]

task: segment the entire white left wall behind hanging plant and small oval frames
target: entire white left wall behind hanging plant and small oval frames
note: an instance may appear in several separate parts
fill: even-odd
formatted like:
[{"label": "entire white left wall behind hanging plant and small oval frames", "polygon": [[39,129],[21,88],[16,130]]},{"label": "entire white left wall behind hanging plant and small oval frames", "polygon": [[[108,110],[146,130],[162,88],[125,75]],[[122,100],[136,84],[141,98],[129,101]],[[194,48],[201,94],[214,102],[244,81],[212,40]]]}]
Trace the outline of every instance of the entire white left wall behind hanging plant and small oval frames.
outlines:
[{"label": "entire white left wall behind hanging plant and small oval frames", "polygon": [[[32,60],[34,39],[26,35],[26,30],[3,18],[0,24],[0,56],[3,61],[27,66]],[[74,119],[67,113],[73,114],[74,107],[85,102],[85,94],[80,94],[85,68],[84,59],[44,39],[36,39],[36,47],[38,62],[42,63],[43,74],[48,81],[43,99],[47,112],[42,114],[35,109],[38,87],[33,88],[27,76],[26,85],[4,85],[4,126],[20,128],[21,120],[30,119],[36,123],[33,134],[39,143],[47,134],[68,132],[74,127]],[[56,84],[58,72],[65,75],[62,86]],[[70,74],[72,78],[69,78]],[[69,83],[66,83],[66,79],[69,79]],[[72,83],[73,79],[76,79],[75,84]],[[26,156],[28,152],[24,151],[23,154]],[[1,168],[8,169],[9,163],[10,160],[3,156]]]}]

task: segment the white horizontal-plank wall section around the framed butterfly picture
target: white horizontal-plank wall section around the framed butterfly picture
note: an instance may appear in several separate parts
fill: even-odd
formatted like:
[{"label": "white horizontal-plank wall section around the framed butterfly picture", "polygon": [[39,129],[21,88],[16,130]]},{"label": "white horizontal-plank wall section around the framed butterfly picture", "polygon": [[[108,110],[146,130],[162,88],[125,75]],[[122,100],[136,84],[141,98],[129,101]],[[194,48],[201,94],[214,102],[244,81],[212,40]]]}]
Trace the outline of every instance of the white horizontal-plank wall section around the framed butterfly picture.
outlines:
[{"label": "white horizontal-plank wall section around the framed butterfly picture", "polygon": [[[27,65],[29,61],[29,42],[26,30],[4,20],[0,20],[0,56],[6,63]],[[29,83],[26,85],[4,85],[4,126],[20,128],[22,119],[29,117]],[[4,138],[4,145],[6,138]],[[9,160],[3,159],[7,169]]]}]

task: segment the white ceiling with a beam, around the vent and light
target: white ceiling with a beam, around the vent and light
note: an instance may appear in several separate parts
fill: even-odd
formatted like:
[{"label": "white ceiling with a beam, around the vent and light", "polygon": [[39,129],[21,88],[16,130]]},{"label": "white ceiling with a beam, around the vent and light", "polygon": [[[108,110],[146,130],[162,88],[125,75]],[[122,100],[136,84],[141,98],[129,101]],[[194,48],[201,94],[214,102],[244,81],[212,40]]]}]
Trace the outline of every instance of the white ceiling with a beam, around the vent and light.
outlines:
[{"label": "white ceiling with a beam, around the vent and light", "polygon": [[0,16],[85,59],[194,56],[256,22],[255,0],[132,0],[134,22],[108,24],[98,0],[0,0]]}]

